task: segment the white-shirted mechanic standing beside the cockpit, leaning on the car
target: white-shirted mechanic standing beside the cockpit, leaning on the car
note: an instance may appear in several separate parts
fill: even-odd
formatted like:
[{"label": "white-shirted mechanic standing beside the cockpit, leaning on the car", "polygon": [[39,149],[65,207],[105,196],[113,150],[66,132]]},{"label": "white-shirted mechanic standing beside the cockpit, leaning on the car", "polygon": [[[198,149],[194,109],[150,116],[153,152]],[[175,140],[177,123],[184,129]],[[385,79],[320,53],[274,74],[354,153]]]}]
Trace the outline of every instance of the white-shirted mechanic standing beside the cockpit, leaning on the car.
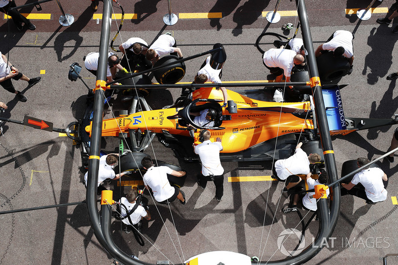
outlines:
[{"label": "white-shirted mechanic standing beside the cockpit, leaning on the car", "polygon": [[[201,138],[201,139],[200,139]],[[205,189],[207,181],[213,181],[215,185],[215,198],[221,201],[224,194],[224,169],[220,162],[220,151],[222,151],[221,139],[217,137],[216,142],[210,141],[210,132],[200,130],[199,141],[202,143],[194,147],[195,154],[199,155],[202,171],[198,176],[198,185]]]}]

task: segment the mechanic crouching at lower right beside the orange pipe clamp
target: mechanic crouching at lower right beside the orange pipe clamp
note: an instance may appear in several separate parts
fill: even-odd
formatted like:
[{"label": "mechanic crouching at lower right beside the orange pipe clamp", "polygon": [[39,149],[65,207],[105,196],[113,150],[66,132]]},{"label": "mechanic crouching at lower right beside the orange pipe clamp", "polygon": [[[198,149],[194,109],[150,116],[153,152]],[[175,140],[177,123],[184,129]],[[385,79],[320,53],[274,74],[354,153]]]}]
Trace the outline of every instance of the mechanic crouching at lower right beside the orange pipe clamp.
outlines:
[{"label": "mechanic crouching at lower right beside the orange pipe clamp", "polygon": [[[307,184],[308,184],[308,190],[309,189],[314,189],[316,185],[321,185],[321,184],[325,184],[328,182],[327,179],[327,174],[326,171],[323,169],[319,170],[319,177],[318,179],[313,179],[311,176],[307,176]],[[297,176],[298,177],[298,176]],[[302,179],[297,187],[294,188],[296,190],[296,192],[292,193],[291,195],[291,202],[289,203],[289,206],[285,209],[283,209],[282,211],[284,213],[289,213],[292,211],[297,211],[297,205],[298,202],[301,201],[302,203],[302,208],[307,210],[307,211],[316,211],[317,207],[316,207],[316,198],[313,198],[312,196],[315,195],[315,191],[311,191],[311,192],[307,192],[302,193],[300,191],[305,190],[305,182],[304,179]],[[329,189],[326,189],[326,195],[329,196]],[[293,200],[292,200],[292,196],[293,196]]]}]

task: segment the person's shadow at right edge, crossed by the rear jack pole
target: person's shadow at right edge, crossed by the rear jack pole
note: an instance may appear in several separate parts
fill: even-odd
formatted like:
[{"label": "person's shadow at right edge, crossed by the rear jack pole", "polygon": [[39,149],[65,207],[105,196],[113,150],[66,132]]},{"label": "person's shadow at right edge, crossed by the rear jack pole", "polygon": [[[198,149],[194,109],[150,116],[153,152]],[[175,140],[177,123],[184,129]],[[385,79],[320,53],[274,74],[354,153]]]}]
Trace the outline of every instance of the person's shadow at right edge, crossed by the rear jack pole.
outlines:
[{"label": "person's shadow at right edge, crossed by the rear jack pole", "polygon": [[[393,97],[394,88],[396,87],[396,80],[391,81],[389,88],[383,94],[382,99],[380,100],[379,105],[376,107],[376,101],[372,102],[370,118],[379,118],[379,119],[389,119],[391,118],[395,112],[397,111],[394,106],[398,105],[398,96]],[[390,107],[386,107],[390,106]],[[376,139],[379,136],[380,132],[387,132],[390,129],[390,126],[383,126],[379,128],[372,128],[368,131],[368,139]]]}]

